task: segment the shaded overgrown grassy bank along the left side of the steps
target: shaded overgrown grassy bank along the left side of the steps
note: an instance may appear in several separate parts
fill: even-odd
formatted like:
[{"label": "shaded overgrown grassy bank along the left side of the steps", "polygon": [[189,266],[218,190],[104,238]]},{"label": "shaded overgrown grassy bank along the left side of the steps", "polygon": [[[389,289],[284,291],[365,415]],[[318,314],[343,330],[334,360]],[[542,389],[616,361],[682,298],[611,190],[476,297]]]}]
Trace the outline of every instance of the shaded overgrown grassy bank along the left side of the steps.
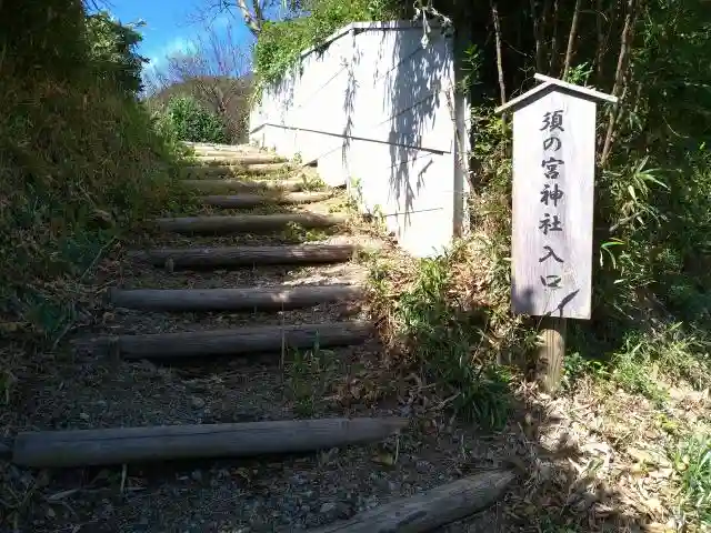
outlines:
[{"label": "shaded overgrown grassy bank along the left side of the steps", "polygon": [[132,29],[76,0],[0,19],[0,326],[49,340],[101,255],[182,197],[181,149],[136,98]]}]

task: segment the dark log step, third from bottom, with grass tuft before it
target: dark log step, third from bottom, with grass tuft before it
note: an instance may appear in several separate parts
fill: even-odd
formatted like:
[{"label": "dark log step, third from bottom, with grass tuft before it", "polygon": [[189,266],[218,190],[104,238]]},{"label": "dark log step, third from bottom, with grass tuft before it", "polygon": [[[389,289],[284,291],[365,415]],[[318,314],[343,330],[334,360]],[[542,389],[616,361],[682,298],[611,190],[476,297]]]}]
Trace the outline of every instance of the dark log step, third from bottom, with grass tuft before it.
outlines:
[{"label": "dark log step, third from bottom, with grass tuft before it", "polygon": [[364,342],[372,325],[364,321],[326,324],[262,325],[232,330],[120,335],[98,339],[97,348],[116,350],[123,359],[180,359],[209,355],[279,353],[284,348],[347,346]]}]

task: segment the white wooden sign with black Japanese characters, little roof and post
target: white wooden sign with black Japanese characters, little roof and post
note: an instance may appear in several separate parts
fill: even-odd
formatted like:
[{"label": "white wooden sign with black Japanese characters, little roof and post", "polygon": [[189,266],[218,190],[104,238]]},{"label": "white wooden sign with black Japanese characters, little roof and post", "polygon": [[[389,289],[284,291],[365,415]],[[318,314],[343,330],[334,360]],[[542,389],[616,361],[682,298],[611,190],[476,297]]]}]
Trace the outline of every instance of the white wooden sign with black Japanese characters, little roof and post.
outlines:
[{"label": "white wooden sign with black Japanese characters, little roof and post", "polygon": [[541,316],[539,379],[560,384],[565,320],[590,319],[598,101],[617,98],[535,74],[543,83],[497,108],[513,111],[511,305]]}]

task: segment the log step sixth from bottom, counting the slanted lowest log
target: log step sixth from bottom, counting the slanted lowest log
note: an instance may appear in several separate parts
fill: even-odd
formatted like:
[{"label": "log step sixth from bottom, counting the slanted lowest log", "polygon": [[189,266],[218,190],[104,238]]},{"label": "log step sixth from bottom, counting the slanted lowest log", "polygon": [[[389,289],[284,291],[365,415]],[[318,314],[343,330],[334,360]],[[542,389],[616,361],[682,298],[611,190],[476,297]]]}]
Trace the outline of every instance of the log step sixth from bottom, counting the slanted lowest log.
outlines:
[{"label": "log step sixth from bottom, counting the slanted lowest log", "polygon": [[279,213],[181,217],[158,219],[156,222],[161,230],[176,233],[258,233],[281,230],[290,223],[302,228],[329,228],[347,220],[346,214]]}]

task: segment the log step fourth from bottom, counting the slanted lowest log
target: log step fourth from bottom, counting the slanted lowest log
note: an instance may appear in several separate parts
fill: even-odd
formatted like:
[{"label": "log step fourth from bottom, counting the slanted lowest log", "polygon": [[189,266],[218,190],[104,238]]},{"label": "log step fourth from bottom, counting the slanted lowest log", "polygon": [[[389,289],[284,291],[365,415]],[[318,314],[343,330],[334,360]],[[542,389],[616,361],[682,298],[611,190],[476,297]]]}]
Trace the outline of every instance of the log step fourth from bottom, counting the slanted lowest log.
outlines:
[{"label": "log step fourth from bottom, counting the slanted lowest log", "polygon": [[110,291],[118,308],[150,311],[279,311],[361,298],[360,285],[279,285],[249,289],[133,289]]}]

